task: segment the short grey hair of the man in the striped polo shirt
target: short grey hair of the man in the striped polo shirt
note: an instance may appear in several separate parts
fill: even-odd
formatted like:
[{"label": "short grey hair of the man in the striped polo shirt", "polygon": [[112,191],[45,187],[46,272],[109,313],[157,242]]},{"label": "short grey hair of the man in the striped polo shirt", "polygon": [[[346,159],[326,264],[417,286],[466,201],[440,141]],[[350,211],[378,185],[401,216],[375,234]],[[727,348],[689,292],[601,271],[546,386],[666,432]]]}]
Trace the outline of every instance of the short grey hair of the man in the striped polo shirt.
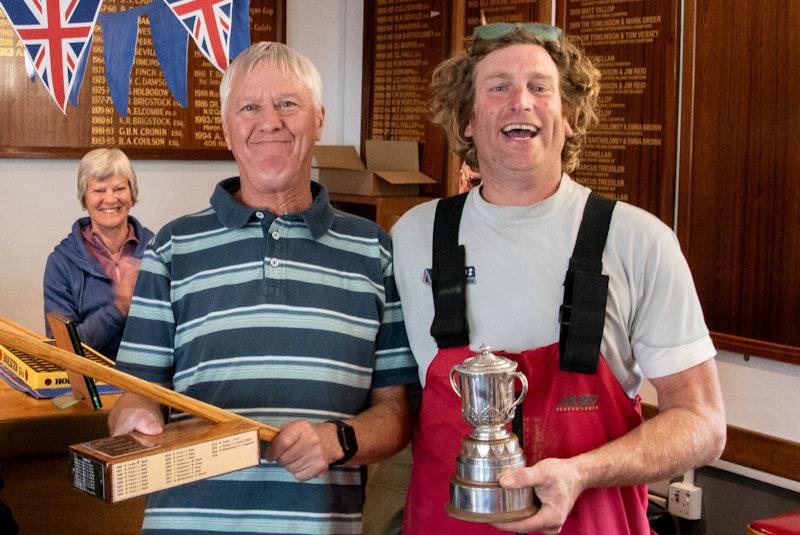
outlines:
[{"label": "short grey hair of the man in the striped polo shirt", "polygon": [[241,74],[248,74],[264,61],[279,68],[284,75],[291,72],[297,76],[300,82],[311,91],[317,109],[322,108],[322,78],[311,60],[283,43],[261,41],[236,56],[222,76],[219,84],[219,104],[220,115],[223,118],[234,78]]}]

